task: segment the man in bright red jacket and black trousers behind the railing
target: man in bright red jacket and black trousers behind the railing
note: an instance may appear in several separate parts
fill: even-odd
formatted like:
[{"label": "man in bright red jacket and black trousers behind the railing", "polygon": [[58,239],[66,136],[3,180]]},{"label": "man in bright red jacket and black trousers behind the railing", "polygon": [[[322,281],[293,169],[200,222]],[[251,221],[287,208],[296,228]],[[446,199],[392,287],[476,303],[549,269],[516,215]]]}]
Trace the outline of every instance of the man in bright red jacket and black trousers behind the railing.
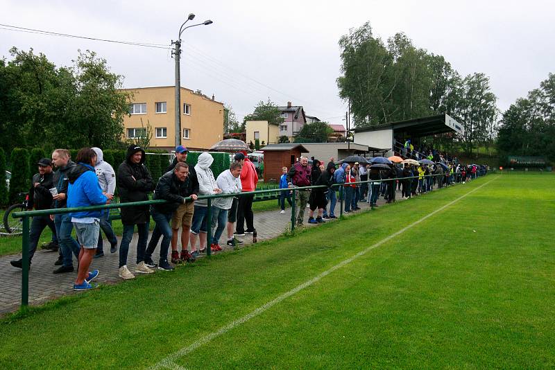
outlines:
[{"label": "man in bright red jacket and black trousers behind the railing", "polygon": [[[241,158],[242,156],[242,158]],[[243,168],[241,169],[241,187],[243,191],[255,191],[258,182],[258,175],[253,162],[246,156],[246,152],[239,152],[235,155],[235,160],[244,159]],[[239,204],[237,205],[237,226],[235,227],[236,236],[244,236],[246,234],[253,234],[255,232],[254,214],[253,214],[253,198],[255,196],[240,195]],[[247,229],[245,230],[245,221],[247,222]]]}]

